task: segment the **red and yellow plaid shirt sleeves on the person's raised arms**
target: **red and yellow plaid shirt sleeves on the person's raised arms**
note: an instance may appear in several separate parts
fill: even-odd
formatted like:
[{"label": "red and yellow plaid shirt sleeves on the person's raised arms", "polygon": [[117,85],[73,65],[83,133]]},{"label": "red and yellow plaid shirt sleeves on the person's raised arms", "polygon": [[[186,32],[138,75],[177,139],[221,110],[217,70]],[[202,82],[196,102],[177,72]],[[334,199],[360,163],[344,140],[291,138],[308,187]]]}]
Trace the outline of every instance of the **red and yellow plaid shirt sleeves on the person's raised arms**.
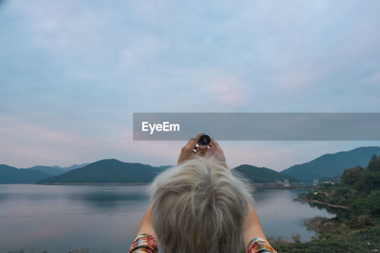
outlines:
[{"label": "red and yellow plaid shirt sleeves on the person's raised arms", "polygon": [[[269,243],[261,238],[253,238],[247,253],[277,253]],[[133,241],[128,253],[160,253],[156,239],[150,234],[141,234]]]}]

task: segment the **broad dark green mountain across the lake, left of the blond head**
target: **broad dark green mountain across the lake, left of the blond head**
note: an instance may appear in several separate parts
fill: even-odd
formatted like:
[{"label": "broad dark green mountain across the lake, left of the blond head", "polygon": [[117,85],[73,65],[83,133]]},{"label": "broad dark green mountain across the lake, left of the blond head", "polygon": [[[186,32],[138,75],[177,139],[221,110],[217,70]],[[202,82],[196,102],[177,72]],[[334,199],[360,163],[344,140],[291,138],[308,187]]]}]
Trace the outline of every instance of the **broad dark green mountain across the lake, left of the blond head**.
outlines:
[{"label": "broad dark green mountain across the lake, left of the blond head", "polygon": [[160,168],[141,163],[124,163],[116,159],[105,159],[82,168],[72,169],[55,177],[39,180],[37,183],[147,183],[166,167],[161,166]]}]

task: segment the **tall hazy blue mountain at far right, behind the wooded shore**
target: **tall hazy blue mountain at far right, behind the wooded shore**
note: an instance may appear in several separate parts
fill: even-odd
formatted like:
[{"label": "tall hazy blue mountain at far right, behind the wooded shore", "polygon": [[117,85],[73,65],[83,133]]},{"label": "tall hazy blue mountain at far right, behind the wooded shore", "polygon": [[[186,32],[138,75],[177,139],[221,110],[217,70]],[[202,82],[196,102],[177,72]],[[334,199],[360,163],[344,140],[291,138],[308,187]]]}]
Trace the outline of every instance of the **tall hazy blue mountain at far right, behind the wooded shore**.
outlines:
[{"label": "tall hazy blue mountain at far right, behind the wooded shore", "polygon": [[325,154],[307,163],[293,165],[281,173],[296,177],[302,182],[313,182],[313,179],[340,175],[348,168],[365,167],[373,154],[379,155],[380,147],[359,147],[350,151]]}]

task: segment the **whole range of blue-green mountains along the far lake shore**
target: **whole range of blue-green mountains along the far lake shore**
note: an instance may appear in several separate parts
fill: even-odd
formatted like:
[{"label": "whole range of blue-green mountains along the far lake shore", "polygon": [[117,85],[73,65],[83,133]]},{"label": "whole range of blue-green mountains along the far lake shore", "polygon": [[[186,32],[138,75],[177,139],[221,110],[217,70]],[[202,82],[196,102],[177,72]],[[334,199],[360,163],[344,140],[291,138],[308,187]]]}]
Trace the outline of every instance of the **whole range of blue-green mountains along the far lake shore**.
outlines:
[{"label": "whole range of blue-green mountains along the far lake shore", "polygon": [[[380,147],[360,147],[322,155],[308,163],[293,165],[281,172],[248,164],[234,169],[241,172],[252,183],[275,182],[283,179],[289,179],[290,182],[312,182],[313,179],[338,176],[344,169],[358,165],[365,167],[372,154],[379,155]],[[17,169],[0,164],[0,183],[147,183],[168,167],[171,166],[154,167],[149,164],[125,163],[116,159],[74,164],[65,168],[34,166]]]}]

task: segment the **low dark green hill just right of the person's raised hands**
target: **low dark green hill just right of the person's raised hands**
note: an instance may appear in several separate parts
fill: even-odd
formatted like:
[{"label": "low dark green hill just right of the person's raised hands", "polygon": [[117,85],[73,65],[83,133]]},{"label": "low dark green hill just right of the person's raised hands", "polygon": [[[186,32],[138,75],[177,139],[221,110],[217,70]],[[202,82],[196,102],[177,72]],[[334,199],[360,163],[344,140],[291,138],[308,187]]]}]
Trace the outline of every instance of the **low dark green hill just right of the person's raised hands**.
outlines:
[{"label": "low dark green hill just right of the person's raised hands", "polygon": [[256,166],[243,164],[233,169],[242,173],[252,183],[268,183],[275,182],[276,180],[283,181],[284,179],[289,179],[289,182],[299,182],[299,180],[294,177],[282,174],[280,172],[265,167],[259,168]]}]

